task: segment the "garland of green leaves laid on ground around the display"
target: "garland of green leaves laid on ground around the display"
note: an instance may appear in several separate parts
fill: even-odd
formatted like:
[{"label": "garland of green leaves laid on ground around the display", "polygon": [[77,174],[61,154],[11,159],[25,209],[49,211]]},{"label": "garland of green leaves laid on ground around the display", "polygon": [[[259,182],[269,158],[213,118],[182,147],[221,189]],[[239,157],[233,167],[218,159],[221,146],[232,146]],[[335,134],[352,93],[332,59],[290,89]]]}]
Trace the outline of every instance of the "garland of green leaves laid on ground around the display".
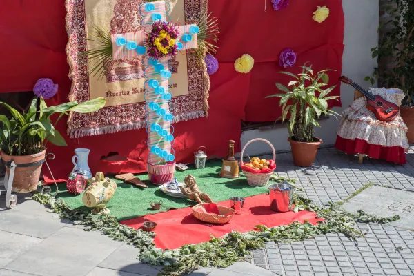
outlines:
[{"label": "garland of green leaves laid on ground around the display", "polygon": [[[287,180],[290,184],[295,184],[295,179],[284,179],[284,177],[273,176],[271,180],[276,182]],[[295,188],[295,190],[299,192],[301,189]],[[55,199],[48,194],[35,193],[32,199],[50,206],[53,212],[59,213],[62,218],[75,221],[74,224],[87,226],[85,230],[99,231],[117,241],[132,244],[138,248],[138,256],[141,262],[152,266],[164,265],[159,275],[168,276],[191,273],[197,270],[199,266],[229,266],[250,255],[250,250],[263,248],[265,242],[275,242],[277,244],[299,242],[326,233],[342,233],[357,242],[357,237],[363,237],[366,233],[354,228],[356,222],[382,224],[400,219],[399,216],[376,217],[368,215],[362,210],[359,210],[357,215],[353,215],[340,210],[337,204],[331,204],[329,208],[324,208],[314,204],[311,199],[307,199],[304,195],[295,193],[293,198],[293,203],[297,208],[295,211],[313,211],[317,213],[318,218],[323,218],[324,221],[320,221],[317,225],[313,225],[308,221],[305,221],[304,224],[295,221],[286,226],[272,228],[260,225],[255,227],[256,231],[248,233],[232,231],[224,237],[211,237],[209,242],[186,244],[175,250],[162,250],[155,248],[153,243],[155,233],[144,232],[119,224],[115,217],[108,215],[96,216],[86,210],[71,210],[63,199]]]}]

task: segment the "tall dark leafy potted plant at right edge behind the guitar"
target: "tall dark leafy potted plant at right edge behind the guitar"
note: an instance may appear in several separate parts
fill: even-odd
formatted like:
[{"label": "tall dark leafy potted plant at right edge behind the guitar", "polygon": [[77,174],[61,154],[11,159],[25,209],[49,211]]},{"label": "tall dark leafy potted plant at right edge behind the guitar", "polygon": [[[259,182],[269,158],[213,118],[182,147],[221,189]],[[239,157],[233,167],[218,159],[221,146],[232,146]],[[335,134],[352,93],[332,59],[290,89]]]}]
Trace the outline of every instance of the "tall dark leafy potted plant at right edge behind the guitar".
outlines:
[{"label": "tall dark leafy potted plant at right edge behind the guitar", "polygon": [[414,143],[414,1],[390,0],[385,12],[390,20],[380,26],[382,32],[379,47],[371,49],[378,63],[373,77],[365,77],[374,84],[379,77],[381,86],[401,88],[406,97],[400,107],[400,115],[408,126],[408,142]]}]

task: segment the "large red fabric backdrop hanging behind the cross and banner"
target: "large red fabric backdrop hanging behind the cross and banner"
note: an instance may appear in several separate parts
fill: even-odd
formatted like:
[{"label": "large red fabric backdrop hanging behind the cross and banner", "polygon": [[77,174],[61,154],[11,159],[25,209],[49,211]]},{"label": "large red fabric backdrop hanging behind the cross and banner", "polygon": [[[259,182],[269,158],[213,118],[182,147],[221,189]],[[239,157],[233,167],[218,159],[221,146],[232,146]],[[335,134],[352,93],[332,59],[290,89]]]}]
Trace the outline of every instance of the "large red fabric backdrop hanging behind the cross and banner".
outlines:
[{"label": "large red fabric backdrop hanging behind the cross and banner", "polygon": [[[277,98],[264,99],[277,92],[275,82],[287,84],[288,76],[276,72],[279,53],[292,48],[298,53],[297,63],[290,72],[299,72],[306,61],[315,70],[331,68],[331,83],[339,84],[344,49],[344,14],[342,0],[290,0],[286,10],[274,11],[270,0],[264,12],[264,1],[210,0],[208,8],[219,19],[219,70],[210,76],[209,117],[175,124],[177,161],[190,162],[198,146],[206,146],[211,156],[226,155],[228,140],[240,148],[241,120],[273,121],[281,110]],[[317,6],[327,6],[331,14],[324,23],[316,23],[312,13]],[[59,84],[57,96],[48,104],[67,101],[70,90],[66,62],[64,1],[3,0],[0,10],[0,92],[32,90],[41,77]],[[249,54],[255,66],[248,74],[235,72],[237,57]],[[333,95],[340,95],[339,88]],[[331,106],[340,102],[332,101]],[[57,129],[64,134],[66,123]],[[68,147],[49,146],[55,152],[50,167],[55,177],[65,179],[72,169],[70,157],[74,148],[90,148],[92,171],[143,172],[147,155],[145,130],[130,130],[110,135],[70,139]],[[118,152],[128,161],[103,161],[109,152]],[[44,170],[46,177],[49,173]]]}]

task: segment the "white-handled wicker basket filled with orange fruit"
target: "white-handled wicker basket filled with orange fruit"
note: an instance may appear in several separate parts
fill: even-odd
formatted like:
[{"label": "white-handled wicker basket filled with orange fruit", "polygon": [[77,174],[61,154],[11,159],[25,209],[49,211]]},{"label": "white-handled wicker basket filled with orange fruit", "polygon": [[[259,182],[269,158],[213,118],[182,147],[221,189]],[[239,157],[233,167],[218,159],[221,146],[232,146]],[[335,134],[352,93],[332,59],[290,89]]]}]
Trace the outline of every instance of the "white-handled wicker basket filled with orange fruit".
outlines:
[{"label": "white-handled wicker basket filled with orange fruit", "polygon": [[[253,143],[254,141],[264,141],[265,143],[267,143],[270,146],[270,148],[272,148],[273,160],[259,159],[259,157],[253,157],[250,159],[249,163],[244,163],[244,150],[246,150],[247,146],[250,143]],[[246,175],[247,183],[250,186],[266,186],[270,179],[270,176],[273,174],[273,170],[275,170],[276,168],[276,152],[275,148],[273,148],[273,145],[270,144],[269,141],[262,138],[250,140],[242,150],[241,159],[242,160],[240,161],[240,166],[242,167],[244,175]]]}]

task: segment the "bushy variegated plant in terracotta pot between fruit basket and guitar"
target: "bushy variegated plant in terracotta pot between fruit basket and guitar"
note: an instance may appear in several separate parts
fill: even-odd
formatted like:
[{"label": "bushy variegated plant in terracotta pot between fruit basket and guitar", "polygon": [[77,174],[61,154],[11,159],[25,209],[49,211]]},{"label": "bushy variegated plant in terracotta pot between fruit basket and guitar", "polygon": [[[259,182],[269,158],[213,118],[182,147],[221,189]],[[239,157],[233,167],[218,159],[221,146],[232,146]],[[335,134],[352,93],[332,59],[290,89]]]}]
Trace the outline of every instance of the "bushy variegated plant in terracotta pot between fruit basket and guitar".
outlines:
[{"label": "bushy variegated plant in terracotta pot between fruit basket and guitar", "polygon": [[[339,96],[328,96],[336,87],[324,89],[329,82],[327,71],[322,70],[313,73],[312,66],[301,66],[302,73],[294,75],[290,72],[279,72],[293,77],[288,87],[281,83],[276,83],[277,88],[282,94],[269,95],[270,97],[280,97],[279,106],[282,106],[282,121],[290,114],[288,126],[290,146],[292,148],[293,162],[296,166],[312,166],[315,160],[317,148],[322,144],[322,139],[313,137],[313,128],[319,126],[317,118],[321,115],[338,115],[328,109],[328,100],[337,99]],[[335,114],[334,114],[335,113]],[[336,116],[335,116],[336,117]]]}]

